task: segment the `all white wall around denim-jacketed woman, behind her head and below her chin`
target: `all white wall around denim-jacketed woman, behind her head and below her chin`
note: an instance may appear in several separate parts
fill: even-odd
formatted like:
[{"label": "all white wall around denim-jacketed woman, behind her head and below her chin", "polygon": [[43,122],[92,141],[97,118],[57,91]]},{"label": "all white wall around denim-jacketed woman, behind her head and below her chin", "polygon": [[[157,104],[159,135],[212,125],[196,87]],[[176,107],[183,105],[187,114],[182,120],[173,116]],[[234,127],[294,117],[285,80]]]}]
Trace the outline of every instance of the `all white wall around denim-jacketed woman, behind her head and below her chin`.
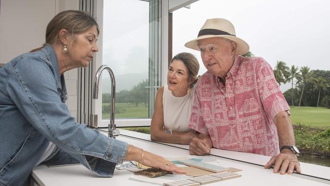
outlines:
[{"label": "all white wall around denim-jacketed woman, behind her head and below her chin", "polygon": [[[79,0],[0,1],[0,64],[45,43],[48,22],[63,10],[79,10]],[[64,73],[68,89],[66,104],[77,118],[78,71]]]}]

